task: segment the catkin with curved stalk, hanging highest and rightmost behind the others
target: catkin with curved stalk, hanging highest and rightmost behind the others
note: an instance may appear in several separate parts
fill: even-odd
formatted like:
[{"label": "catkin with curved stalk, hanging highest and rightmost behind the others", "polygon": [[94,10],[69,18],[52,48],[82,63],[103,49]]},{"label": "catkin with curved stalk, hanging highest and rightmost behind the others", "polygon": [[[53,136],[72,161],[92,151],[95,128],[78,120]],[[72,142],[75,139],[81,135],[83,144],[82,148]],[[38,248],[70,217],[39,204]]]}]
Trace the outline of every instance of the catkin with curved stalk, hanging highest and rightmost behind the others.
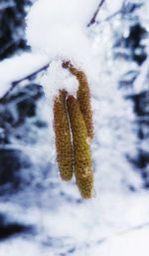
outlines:
[{"label": "catkin with curved stalk, hanging highest and rightmost behind the others", "polygon": [[90,90],[85,74],[74,68],[74,66],[66,62],[64,67],[68,68],[70,72],[78,80],[79,86],[76,94],[76,99],[79,105],[80,112],[83,116],[85,126],[87,128],[88,137],[93,137],[93,122],[92,122],[92,111],[91,111],[91,101],[90,101]]}]

